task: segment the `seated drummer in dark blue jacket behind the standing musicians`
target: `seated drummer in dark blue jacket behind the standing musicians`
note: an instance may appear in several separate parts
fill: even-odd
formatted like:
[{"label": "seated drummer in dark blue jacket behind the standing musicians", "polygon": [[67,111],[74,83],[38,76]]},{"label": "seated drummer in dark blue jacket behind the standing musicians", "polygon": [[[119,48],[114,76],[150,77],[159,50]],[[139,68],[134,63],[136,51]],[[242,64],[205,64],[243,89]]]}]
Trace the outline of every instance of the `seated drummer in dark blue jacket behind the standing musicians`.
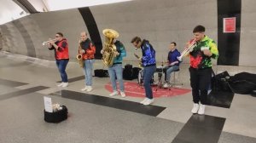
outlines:
[{"label": "seated drummer in dark blue jacket behind the standing musicians", "polygon": [[166,66],[166,70],[164,70],[166,75],[165,76],[166,82],[163,86],[164,88],[169,88],[171,86],[171,83],[170,83],[171,73],[179,70],[180,61],[177,60],[177,57],[179,56],[180,56],[180,53],[176,49],[176,43],[174,42],[170,43],[170,51],[168,53],[167,66]]}]

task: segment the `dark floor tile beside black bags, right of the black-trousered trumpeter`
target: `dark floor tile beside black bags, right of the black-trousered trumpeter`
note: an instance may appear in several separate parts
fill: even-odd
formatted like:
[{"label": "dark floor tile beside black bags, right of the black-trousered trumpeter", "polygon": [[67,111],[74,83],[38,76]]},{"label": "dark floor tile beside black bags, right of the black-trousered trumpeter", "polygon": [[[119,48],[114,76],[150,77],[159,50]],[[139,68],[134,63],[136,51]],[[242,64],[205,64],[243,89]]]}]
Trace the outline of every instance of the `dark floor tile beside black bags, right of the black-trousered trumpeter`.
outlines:
[{"label": "dark floor tile beside black bags, right of the black-trousered trumpeter", "polygon": [[208,94],[207,105],[230,108],[234,93],[231,91],[212,91]]}]

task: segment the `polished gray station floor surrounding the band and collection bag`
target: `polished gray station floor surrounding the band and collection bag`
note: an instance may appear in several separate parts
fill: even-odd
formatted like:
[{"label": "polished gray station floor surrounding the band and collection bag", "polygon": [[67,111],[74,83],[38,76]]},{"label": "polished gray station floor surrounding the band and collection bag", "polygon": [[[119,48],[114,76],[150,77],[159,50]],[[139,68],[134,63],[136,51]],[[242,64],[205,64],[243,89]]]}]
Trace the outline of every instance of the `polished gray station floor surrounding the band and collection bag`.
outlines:
[{"label": "polished gray station floor surrounding the band and collection bag", "polygon": [[[181,72],[187,75],[181,79],[189,78],[187,70]],[[0,53],[1,143],[256,142],[256,98],[251,95],[211,92],[206,115],[199,116],[190,112],[191,92],[160,96],[143,106],[143,97],[108,96],[108,77],[94,77],[93,91],[82,92],[83,71],[75,62],[68,64],[67,74],[69,86],[58,88],[54,61]],[[177,88],[189,90],[188,80],[182,81]],[[67,120],[44,122],[44,96],[67,106]]]}]

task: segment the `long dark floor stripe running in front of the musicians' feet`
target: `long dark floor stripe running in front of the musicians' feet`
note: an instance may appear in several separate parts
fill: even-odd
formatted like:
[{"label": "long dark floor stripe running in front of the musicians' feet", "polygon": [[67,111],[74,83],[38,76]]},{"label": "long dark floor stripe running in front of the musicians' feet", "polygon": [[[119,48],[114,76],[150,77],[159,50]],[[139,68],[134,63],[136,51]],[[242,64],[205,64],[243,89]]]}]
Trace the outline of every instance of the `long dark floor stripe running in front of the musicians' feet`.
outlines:
[{"label": "long dark floor stripe running in front of the musicians' feet", "polygon": [[149,116],[156,117],[160,114],[166,107],[162,106],[143,106],[137,102],[127,101],[127,100],[118,100],[108,97],[103,97],[94,94],[84,94],[74,91],[62,90],[61,96],[63,98],[71,99],[71,100],[79,100],[88,103],[93,103],[101,106],[109,106],[129,112],[138,112],[142,114],[146,114]]}]

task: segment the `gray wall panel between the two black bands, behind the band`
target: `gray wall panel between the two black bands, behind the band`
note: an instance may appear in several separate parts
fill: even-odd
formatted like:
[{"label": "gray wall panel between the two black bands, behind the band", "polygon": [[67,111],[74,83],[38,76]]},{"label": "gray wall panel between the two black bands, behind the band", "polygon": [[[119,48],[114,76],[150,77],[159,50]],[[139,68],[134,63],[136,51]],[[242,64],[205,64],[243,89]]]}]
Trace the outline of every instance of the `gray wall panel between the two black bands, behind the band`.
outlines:
[{"label": "gray wall panel between the two black bands, behind the band", "polygon": [[[177,0],[143,0],[90,9],[100,31],[105,28],[119,31],[119,39],[125,44],[128,53],[125,60],[136,60],[130,41],[134,36],[141,36],[152,43],[156,49],[156,58],[161,61],[162,56],[166,59],[169,43],[172,41],[177,42],[177,49],[183,50],[185,43],[193,37],[192,30],[196,25],[215,29],[212,33],[207,29],[207,35],[214,36],[212,38],[217,41],[216,7],[215,0],[190,0],[186,3]],[[188,59],[184,62],[188,62]]]}]

